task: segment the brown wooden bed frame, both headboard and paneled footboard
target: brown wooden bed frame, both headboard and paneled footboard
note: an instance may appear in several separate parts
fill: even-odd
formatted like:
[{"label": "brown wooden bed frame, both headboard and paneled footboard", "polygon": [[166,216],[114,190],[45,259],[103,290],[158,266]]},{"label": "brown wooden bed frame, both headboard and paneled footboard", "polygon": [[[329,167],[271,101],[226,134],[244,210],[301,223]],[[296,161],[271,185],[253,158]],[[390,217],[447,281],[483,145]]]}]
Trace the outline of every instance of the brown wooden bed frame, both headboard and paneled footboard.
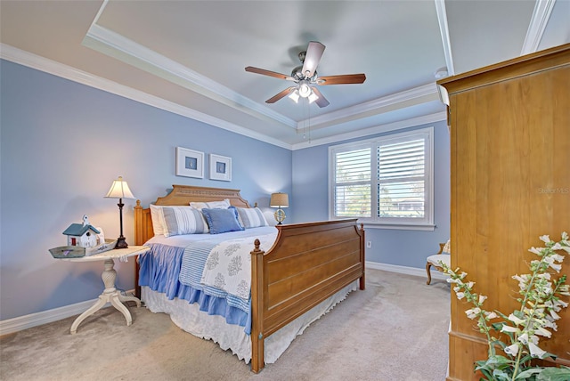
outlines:
[{"label": "brown wooden bed frame, both headboard and paneled footboard", "polygon": [[[234,207],[250,207],[240,190],[173,185],[154,203],[188,206],[193,202],[230,199]],[[338,290],[359,280],[364,289],[364,230],[356,219],[277,225],[277,239],[266,252],[259,240],[252,247],[251,370],[265,366],[264,341],[279,328]],[[153,237],[151,210],[139,200],[134,207],[134,244]],[[138,265],[137,265],[138,285]]]}]

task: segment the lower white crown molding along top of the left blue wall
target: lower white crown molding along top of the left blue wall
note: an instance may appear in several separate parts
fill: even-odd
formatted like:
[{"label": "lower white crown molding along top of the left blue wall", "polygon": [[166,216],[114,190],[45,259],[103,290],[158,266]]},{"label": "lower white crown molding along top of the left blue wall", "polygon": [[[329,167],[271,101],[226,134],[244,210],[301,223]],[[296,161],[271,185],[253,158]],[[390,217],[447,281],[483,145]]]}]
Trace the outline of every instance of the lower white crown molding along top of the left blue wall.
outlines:
[{"label": "lower white crown molding along top of the left blue wall", "polygon": [[261,142],[267,142],[269,144],[291,150],[290,144],[273,139],[267,135],[257,134],[248,128],[235,125],[220,118],[212,117],[195,109],[181,106],[172,101],[166,101],[162,98],[149,93],[144,93],[140,90],[135,90],[126,85],[120,85],[117,82],[110,81],[109,79],[94,76],[93,74],[72,68],[68,65],[62,64],[61,62],[52,61],[34,53],[28,53],[11,45],[0,44],[0,58],[6,61],[18,63],[31,69],[37,69],[45,73],[52,74],[53,76],[69,79],[70,81],[77,82],[81,85],[87,85],[107,93],[113,93],[126,99],[139,101],[146,105],[156,107],[157,109],[164,109],[211,126],[223,128],[224,130],[231,131],[232,133],[248,136]]}]

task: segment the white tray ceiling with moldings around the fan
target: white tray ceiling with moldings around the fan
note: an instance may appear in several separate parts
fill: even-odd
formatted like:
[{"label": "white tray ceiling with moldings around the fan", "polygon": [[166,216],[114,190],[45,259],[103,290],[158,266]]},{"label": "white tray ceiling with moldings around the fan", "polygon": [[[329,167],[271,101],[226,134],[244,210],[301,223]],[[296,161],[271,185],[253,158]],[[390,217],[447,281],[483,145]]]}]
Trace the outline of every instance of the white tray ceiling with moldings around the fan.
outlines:
[{"label": "white tray ceiling with moldings around the fan", "polygon": [[[444,119],[435,73],[570,42],[570,0],[7,1],[0,57],[289,149]],[[309,41],[330,105],[265,103]],[[159,126],[158,126],[159,127]]]}]

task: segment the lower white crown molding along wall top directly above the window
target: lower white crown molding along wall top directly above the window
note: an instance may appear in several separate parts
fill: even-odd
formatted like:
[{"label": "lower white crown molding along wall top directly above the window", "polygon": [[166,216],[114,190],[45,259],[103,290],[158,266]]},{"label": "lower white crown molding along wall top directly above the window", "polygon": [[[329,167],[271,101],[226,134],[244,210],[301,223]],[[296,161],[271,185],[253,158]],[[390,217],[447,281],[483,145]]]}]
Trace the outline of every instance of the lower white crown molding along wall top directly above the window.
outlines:
[{"label": "lower white crown molding along wall top directly above the window", "polygon": [[400,130],[402,128],[428,125],[429,123],[436,123],[444,120],[447,120],[447,113],[445,111],[441,111],[417,118],[410,118],[405,120],[399,120],[393,123],[387,123],[386,125],[373,126],[370,128],[354,131],[352,133],[338,134],[328,138],[311,140],[311,142],[302,142],[302,143],[293,144],[291,150],[303,150],[305,148],[311,148],[323,144],[343,142],[350,139],[362,138],[363,136],[369,136],[372,134],[387,133],[389,131]]}]

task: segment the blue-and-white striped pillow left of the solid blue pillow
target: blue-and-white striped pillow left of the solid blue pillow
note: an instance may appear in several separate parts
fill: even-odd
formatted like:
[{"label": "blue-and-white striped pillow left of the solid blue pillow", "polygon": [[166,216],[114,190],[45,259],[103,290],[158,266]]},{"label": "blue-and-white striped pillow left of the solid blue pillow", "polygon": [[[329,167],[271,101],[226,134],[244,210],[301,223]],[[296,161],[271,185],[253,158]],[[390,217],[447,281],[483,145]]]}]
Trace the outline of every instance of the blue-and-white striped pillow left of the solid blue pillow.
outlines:
[{"label": "blue-and-white striped pillow left of the solid blue pillow", "polygon": [[193,207],[162,207],[164,236],[208,233],[208,223]]}]

